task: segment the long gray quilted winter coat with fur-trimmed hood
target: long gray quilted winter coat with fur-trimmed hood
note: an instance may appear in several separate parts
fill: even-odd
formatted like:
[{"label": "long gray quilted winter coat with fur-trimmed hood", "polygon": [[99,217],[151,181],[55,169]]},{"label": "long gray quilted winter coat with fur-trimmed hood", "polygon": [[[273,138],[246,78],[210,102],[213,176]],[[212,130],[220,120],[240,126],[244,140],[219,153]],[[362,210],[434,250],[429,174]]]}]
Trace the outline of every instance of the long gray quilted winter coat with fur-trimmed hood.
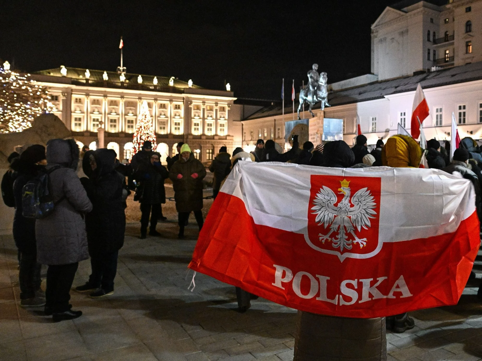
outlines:
[{"label": "long gray quilted winter coat with fur-trimmed hood", "polygon": [[60,202],[51,215],[35,222],[37,261],[46,265],[79,262],[89,258],[82,214],[92,210],[76,173],[79,147],[73,140],[54,139],[47,143],[46,155],[47,169],[55,165],[65,168],[50,174],[50,191],[54,202]]}]

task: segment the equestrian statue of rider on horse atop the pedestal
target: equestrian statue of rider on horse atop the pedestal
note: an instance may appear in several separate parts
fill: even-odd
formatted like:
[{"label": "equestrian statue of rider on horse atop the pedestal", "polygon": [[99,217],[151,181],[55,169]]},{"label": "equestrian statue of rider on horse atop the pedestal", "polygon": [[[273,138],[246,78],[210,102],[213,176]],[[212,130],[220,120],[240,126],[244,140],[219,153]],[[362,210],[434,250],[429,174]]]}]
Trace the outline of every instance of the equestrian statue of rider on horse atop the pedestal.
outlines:
[{"label": "equestrian statue of rider on horse atop the pedestal", "polygon": [[304,103],[309,104],[308,112],[311,116],[315,116],[311,111],[313,105],[321,102],[321,110],[328,104],[328,77],[325,72],[318,74],[318,64],[313,64],[313,68],[308,71],[308,85],[300,91],[300,104],[298,106],[298,119],[300,118],[300,109]]}]

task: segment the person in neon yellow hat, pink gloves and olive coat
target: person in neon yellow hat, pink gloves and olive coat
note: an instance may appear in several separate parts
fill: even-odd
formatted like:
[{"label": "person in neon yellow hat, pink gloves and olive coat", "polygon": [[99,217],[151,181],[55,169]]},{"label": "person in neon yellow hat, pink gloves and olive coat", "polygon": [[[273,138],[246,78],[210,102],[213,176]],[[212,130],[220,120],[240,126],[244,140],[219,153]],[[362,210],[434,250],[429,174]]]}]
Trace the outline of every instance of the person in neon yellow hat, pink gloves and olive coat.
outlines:
[{"label": "person in neon yellow hat, pink gloves and olive coat", "polygon": [[199,230],[202,219],[202,180],[206,176],[206,169],[191,153],[189,145],[181,147],[181,157],[173,164],[169,178],[173,181],[174,200],[178,212],[179,238],[184,238],[184,227],[189,214],[194,212]]}]

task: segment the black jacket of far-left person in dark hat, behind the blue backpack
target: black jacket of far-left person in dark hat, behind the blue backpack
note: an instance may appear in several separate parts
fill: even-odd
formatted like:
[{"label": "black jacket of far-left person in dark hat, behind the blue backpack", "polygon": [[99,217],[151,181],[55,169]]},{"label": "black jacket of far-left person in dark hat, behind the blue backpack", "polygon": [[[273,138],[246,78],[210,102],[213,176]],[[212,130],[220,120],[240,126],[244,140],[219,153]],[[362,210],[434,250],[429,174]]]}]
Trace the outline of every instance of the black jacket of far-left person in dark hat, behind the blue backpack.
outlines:
[{"label": "black jacket of far-left person in dark hat, behind the blue backpack", "polygon": [[42,166],[29,164],[17,159],[13,164],[16,167],[17,178],[13,182],[13,195],[15,197],[15,215],[13,216],[13,240],[20,252],[36,253],[35,219],[22,215],[22,188],[28,181],[35,178]]}]

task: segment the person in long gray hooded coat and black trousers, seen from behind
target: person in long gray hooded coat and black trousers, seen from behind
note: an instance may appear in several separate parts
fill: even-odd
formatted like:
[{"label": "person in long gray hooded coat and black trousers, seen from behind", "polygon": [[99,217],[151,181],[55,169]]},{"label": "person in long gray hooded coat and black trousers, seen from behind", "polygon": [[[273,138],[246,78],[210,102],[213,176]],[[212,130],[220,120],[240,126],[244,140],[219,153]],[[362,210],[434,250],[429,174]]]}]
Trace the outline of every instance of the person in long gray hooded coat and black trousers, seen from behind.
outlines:
[{"label": "person in long gray hooded coat and black trousers, seen from behind", "polygon": [[49,175],[49,189],[55,208],[35,222],[37,261],[48,265],[45,314],[54,322],[80,317],[68,303],[79,262],[89,258],[83,215],[92,203],[77,176],[79,146],[73,139],[47,142],[46,169],[60,166]]}]

